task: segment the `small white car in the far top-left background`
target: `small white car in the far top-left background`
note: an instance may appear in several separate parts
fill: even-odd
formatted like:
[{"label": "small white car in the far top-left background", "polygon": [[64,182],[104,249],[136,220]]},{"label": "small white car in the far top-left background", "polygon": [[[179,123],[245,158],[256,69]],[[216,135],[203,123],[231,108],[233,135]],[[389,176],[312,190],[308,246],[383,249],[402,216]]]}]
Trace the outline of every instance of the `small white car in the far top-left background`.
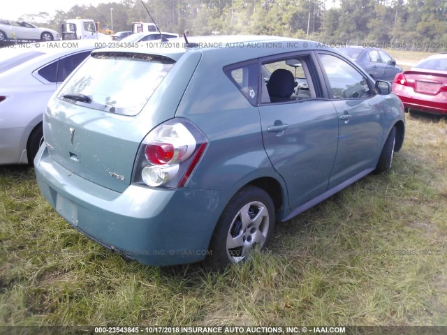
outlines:
[{"label": "small white car in the far top-left background", "polygon": [[0,42],[4,40],[59,40],[59,33],[24,21],[0,19]]}]

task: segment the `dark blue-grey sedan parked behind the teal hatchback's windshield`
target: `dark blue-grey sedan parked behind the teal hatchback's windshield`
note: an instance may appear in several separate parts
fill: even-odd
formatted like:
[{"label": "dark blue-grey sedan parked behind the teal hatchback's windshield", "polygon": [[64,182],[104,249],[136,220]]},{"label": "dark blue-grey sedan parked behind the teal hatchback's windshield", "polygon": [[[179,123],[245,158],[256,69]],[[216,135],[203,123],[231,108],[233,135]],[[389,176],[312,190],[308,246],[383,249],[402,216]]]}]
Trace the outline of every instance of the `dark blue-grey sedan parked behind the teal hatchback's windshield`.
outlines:
[{"label": "dark blue-grey sedan parked behind the teal hatchback's windshield", "polygon": [[395,75],[402,71],[393,57],[376,47],[348,46],[337,50],[356,61],[375,80],[393,82]]}]

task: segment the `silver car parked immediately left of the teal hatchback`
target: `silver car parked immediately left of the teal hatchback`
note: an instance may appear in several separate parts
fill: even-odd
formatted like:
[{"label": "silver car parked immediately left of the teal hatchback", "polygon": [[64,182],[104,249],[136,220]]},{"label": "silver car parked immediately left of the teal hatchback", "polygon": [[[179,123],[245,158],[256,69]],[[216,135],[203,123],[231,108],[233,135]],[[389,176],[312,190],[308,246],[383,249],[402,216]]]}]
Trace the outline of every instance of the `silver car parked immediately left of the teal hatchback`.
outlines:
[{"label": "silver car parked immediately left of the teal hatchback", "polygon": [[48,99],[94,50],[92,41],[75,48],[52,43],[0,49],[0,165],[33,163]]}]

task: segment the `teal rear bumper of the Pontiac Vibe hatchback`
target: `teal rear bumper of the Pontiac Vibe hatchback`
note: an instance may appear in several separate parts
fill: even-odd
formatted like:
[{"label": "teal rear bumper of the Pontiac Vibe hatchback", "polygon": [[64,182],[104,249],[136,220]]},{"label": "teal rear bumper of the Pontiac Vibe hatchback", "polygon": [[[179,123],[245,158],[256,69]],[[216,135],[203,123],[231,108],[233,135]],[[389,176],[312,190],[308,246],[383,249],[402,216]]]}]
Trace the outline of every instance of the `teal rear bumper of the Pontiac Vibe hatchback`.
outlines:
[{"label": "teal rear bumper of the Pontiac Vibe hatchback", "polygon": [[229,191],[133,185],[119,193],[71,174],[44,146],[34,163],[41,193],[68,223],[147,265],[203,260],[214,226],[233,196]]}]

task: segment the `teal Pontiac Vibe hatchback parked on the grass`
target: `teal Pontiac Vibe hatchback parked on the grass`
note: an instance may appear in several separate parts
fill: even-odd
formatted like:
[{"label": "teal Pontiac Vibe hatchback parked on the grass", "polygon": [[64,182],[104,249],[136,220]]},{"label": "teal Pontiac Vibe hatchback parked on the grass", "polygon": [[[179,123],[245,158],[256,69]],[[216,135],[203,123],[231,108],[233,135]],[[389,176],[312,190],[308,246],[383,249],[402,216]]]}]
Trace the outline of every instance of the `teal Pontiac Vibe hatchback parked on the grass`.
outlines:
[{"label": "teal Pontiac Vibe hatchback parked on the grass", "polygon": [[[155,46],[155,45],[154,45]],[[404,141],[388,82],[319,43],[207,36],[96,50],[50,99],[46,200],[124,258],[224,267]]]}]

